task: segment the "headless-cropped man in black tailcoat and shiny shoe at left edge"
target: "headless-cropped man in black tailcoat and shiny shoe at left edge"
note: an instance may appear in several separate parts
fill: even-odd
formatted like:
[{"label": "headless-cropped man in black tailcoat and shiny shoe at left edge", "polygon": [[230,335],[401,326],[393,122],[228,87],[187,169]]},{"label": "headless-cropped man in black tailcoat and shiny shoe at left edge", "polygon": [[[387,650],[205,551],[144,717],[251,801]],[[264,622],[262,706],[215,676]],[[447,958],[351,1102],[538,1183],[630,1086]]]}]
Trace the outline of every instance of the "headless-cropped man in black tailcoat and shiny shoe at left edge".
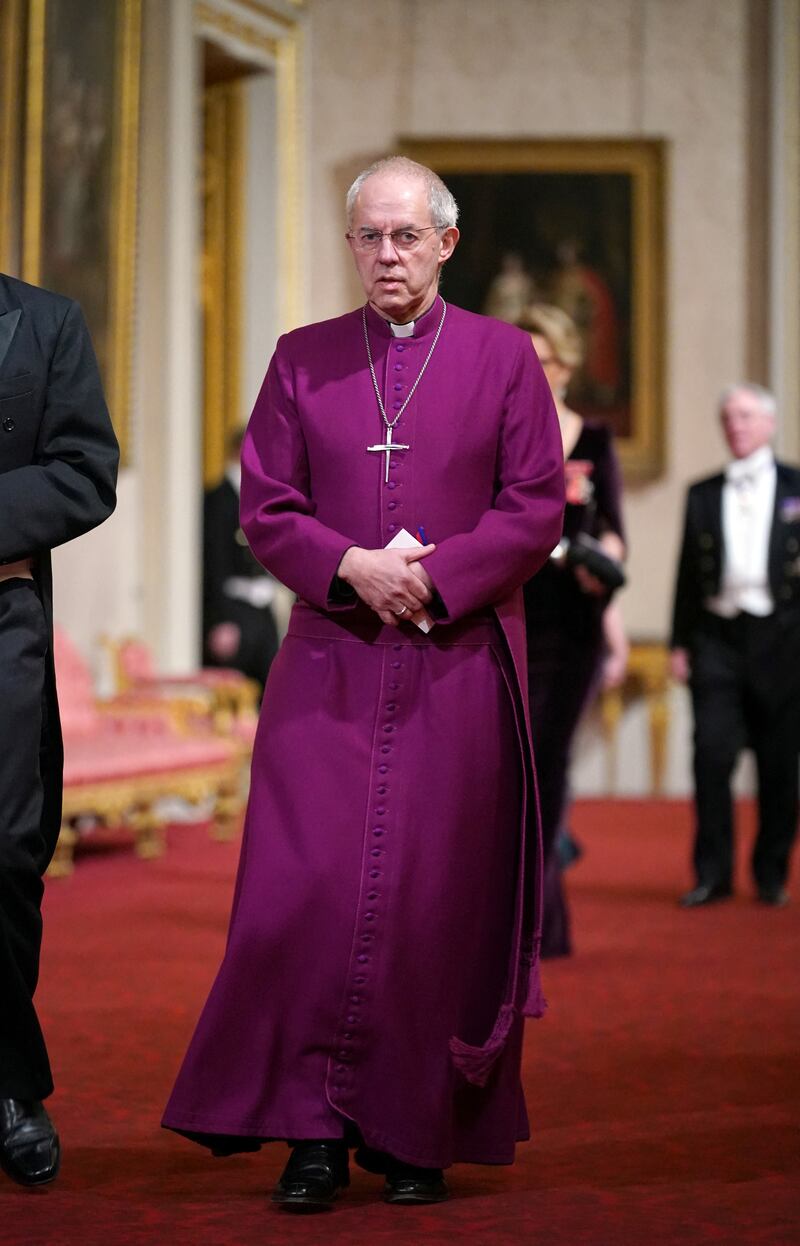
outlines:
[{"label": "headless-cropped man in black tailcoat and shiny shoe at left edge", "polygon": [[60,1159],[34,1008],[61,822],[50,551],[111,515],[117,461],[80,308],[0,274],[0,1166],[21,1185]]}]

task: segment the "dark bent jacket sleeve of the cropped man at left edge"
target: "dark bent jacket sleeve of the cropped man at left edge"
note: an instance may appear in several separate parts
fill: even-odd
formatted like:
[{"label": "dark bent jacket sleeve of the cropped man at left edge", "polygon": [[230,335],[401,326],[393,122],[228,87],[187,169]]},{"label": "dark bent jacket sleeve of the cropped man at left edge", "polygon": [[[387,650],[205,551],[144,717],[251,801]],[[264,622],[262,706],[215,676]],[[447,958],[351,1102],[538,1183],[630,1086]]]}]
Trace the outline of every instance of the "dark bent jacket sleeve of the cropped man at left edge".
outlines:
[{"label": "dark bent jacket sleeve of the cropped man at left edge", "polygon": [[118,459],[88,330],[71,303],[50,360],[35,461],[0,475],[0,562],[102,523],[115,507]]}]

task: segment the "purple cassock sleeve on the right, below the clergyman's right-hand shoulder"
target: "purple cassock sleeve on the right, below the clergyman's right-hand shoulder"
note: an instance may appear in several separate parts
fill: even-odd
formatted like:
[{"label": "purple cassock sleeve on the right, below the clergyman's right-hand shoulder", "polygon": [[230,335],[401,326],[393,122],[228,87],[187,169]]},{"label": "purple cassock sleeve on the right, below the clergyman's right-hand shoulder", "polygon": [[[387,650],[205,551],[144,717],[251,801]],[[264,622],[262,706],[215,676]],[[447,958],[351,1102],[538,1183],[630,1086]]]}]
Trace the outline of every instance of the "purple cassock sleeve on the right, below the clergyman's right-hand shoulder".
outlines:
[{"label": "purple cassock sleeve on the right, below the clergyman's right-hand shoulder", "polygon": [[510,368],[492,507],[471,532],[447,537],[425,559],[449,623],[502,601],[533,576],[561,538],[563,449],[550,388],[533,345],[521,339]]}]

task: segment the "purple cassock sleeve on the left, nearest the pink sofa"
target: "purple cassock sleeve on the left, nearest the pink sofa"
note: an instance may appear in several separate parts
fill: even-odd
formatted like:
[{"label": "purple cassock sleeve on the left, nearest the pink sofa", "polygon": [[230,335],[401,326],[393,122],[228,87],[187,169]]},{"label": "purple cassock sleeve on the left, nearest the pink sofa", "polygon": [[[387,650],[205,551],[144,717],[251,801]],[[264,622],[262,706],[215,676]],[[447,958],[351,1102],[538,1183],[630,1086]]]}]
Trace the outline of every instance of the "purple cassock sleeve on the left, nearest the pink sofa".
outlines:
[{"label": "purple cassock sleeve on the left, nearest the pink sofa", "polygon": [[262,566],[298,597],[319,609],[345,609],[356,596],[336,569],[355,542],[314,512],[292,361],[282,338],[242,445],[242,528]]}]

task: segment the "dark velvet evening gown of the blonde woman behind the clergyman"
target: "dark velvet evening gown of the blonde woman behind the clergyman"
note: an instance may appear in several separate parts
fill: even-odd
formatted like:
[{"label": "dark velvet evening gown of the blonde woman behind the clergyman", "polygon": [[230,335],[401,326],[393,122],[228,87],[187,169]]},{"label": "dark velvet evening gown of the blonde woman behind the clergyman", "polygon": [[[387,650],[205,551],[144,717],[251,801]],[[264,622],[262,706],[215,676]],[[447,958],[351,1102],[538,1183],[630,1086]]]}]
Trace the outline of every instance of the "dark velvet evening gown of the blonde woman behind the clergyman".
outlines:
[{"label": "dark velvet evening gown of the blonde woman behind the clergyman", "polygon": [[[609,430],[587,421],[564,464],[564,536],[624,540],[619,464]],[[567,804],[569,755],[583,710],[598,690],[607,597],[581,589],[574,573],[547,562],[525,586],[528,698],[545,850],[542,956],[572,951],[556,840]]]}]

